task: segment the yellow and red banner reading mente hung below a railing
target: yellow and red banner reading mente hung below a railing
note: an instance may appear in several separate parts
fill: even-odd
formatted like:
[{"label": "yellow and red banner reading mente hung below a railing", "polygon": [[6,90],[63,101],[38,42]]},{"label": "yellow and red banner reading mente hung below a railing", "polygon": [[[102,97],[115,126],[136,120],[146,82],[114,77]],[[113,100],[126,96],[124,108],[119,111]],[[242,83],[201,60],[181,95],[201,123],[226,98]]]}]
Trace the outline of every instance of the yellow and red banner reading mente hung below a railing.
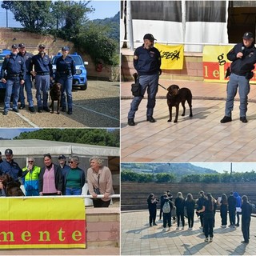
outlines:
[{"label": "yellow and red banner reading mente hung below a railing", "polygon": [[0,249],[86,248],[83,198],[0,198]]}]

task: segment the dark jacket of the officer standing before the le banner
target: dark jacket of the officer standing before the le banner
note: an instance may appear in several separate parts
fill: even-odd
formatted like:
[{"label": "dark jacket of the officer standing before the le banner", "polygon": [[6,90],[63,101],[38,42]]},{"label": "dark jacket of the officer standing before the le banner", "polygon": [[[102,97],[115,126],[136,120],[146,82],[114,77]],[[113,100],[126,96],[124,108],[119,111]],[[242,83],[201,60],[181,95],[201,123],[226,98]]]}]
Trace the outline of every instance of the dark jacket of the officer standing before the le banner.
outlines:
[{"label": "dark jacket of the officer standing before the le banner", "polygon": [[[243,53],[242,58],[237,58],[239,52]],[[246,76],[246,73],[254,70],[254,63],[256,63],[256,48],[254,44],[246,48],[242,42],[238,43],[226,56],[232,62],[230,66],[232,73]]]}]

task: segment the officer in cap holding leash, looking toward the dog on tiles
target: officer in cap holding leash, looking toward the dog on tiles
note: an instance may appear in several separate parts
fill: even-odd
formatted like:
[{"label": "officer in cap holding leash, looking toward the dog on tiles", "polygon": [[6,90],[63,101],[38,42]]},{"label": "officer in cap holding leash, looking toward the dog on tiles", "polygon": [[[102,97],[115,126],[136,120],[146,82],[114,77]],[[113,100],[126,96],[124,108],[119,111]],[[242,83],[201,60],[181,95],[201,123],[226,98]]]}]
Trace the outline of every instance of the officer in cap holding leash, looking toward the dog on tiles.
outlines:
[{"label": "officer in cap holding leash, looking toward the dog on tiles", "polygon": [[134,116],[146,90],[148,94],[146,121],[155,122],[153,111],[158,92],[159,74],[161,74],[161,56],[159,50],[154,47],[154,40],[156,39],[153,34],[145,34],[143,45],[134,52],[134,68],[138,72],[140,95],[135,96],[130,104],[130,111],[128,113],[129,126],[135,126]]}]

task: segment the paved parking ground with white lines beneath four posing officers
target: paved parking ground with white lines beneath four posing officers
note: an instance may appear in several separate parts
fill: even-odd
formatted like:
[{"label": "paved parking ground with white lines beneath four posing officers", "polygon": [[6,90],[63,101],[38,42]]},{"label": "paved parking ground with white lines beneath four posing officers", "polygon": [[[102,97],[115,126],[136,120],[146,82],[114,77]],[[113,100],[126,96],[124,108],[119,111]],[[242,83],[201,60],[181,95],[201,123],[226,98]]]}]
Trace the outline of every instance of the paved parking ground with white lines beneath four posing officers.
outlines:
[{"label": "paved parking ground with white lines beneath four posing officers", "polygon": [[[42,128],[78,128],[78,127],[119,127],[120,109],[119,82],[107,82],[90,80],[87,90],[73,91],[73,114],[61,112],[30,113],[28,106],[19,110],[19,113],[9,111],[8,115],[2,115],[3,95],[1,95],[0,114],[2,115],[0,126],[11,127],[42,127]],[[33,89],[34,106],[36,107],[35,89]],[[56,104],[56,102],[55,102]],[[49,103],[50,105],[50,103]],[[55,106],[56,109],[56,106]]]}]

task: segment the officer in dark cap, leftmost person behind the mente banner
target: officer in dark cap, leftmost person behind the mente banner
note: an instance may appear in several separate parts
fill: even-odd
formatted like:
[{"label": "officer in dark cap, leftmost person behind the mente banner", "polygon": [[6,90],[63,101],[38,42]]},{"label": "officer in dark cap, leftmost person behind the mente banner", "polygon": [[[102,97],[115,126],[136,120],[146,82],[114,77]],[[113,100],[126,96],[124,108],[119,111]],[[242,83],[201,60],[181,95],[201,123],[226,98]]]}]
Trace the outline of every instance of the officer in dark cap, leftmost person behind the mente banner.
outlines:
[{"label": "officer in dark cap, leftmost person behind the mente banner", "polygon": [[13,160],[13,150],[6,149],[5,155],[6,159],[0,163],[0,175],[9,174],[10,177],[14,178],[15,182],[18,182],[18,178],[22,177],[22,169]]}]

